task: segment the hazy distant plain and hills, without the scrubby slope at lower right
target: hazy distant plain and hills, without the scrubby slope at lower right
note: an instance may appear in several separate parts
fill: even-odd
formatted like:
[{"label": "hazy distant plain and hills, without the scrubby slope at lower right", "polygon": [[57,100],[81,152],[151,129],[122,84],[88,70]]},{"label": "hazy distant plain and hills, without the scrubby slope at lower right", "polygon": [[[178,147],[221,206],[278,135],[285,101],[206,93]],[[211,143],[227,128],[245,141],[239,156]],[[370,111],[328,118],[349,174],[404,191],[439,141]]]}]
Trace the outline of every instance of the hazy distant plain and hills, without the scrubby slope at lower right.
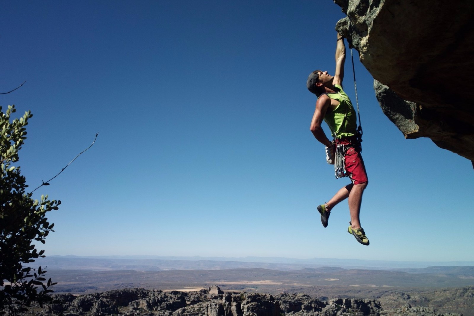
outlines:
[{"label": "hazy distant plain and hills, without the scrubby slope at lower right", "polygon": [[[362,266],[374,262],[324,265],[282,258],[252,258],[255,262],[225,260],[138,259],[128,257],[50,256],[35,262],[58,282],[60,292],[91,292],[142,287],[147,289],[206,288],[306,292],[309,287],[383,289],[392,287],[462,287],[474,285],[474,266],[383,268]],[[257,260],[260,259],[260,260]],[[342,264],[341,264],[342,263]],[[35,265],[36,265],[35,264]],[[387,264],[388,265],[388,264]]]}]

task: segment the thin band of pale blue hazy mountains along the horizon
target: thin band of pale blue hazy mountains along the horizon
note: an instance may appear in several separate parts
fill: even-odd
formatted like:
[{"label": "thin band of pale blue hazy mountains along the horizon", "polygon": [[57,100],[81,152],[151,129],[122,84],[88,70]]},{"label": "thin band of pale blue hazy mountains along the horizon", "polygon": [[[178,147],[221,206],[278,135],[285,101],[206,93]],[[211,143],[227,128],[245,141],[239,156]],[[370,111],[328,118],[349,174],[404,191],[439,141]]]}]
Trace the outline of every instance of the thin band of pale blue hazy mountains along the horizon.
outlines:
[{"label": "thin band of pale blue hazy mountains along the horizon", "polygon": [[283,257],[172,257],[172,256],[47,256],[36,260],[50,269],[81,270],[219,270],[236,268],[263,268],[273,270],[300,270],[324,266],[345,269],[422,269],[432,266],[474,266],[474,262],[410,262],[357,259]]}]

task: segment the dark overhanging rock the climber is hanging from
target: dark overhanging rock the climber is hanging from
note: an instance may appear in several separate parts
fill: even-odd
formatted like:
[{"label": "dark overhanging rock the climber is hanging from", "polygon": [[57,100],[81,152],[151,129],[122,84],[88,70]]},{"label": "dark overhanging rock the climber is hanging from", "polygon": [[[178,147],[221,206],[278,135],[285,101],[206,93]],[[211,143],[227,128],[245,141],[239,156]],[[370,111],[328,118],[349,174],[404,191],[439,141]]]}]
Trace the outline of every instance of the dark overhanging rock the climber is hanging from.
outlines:
[{"label": "dark overhanging rock the climber is hanging from", "polygon": [[334,0],[337,31],[373,75],[406,138],[429,137],[474,161],[474,1]]}]

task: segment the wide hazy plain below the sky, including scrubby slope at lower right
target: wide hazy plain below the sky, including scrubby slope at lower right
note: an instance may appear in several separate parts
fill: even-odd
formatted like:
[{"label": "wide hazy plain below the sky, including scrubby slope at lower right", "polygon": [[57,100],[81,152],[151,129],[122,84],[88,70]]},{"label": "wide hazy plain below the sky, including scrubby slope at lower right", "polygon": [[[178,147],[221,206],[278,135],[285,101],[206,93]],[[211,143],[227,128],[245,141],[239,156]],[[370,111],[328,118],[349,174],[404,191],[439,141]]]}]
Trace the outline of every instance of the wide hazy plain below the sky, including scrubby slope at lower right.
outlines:
[{"label": "wide hazy plain below the sky, including scrubby slope at lower right", "polygon": [[48,278],[58,282],[55,293],[137,288],[199,291],[216,285],[224,291],[304,293],[322,300],[376,299],[385,309],[410,304],[474,315],[473,265],[357,261],[350,266],[350,261],[337,259],[225,259],[50,256],[36,263],[47,266]]}]

